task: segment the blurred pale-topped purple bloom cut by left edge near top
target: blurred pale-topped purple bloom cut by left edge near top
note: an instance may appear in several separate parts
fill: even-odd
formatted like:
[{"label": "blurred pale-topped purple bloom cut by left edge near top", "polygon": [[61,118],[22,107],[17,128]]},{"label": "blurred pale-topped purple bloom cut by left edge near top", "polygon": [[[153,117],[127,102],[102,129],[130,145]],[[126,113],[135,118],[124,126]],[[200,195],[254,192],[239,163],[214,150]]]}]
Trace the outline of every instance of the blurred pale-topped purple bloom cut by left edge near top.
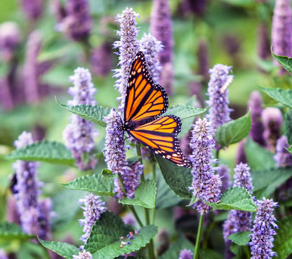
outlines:
[{"label": "blurred pale-topped purple bloom cut by left edge near top", "polygon": [[0,24],[0,58],[4,62],[11,61],[20,43],[20,29],[15,22]]}]

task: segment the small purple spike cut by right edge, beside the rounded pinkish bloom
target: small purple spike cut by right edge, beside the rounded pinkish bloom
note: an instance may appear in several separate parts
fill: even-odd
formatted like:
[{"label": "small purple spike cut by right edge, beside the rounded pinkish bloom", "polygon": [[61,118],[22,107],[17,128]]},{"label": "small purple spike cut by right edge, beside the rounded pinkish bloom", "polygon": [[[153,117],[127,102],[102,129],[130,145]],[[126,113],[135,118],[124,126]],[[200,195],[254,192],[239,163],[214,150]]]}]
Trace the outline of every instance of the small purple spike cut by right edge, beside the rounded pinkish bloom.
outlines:
[{"label": "small purple spike cut by right edge, beside the rounded pinkish bloom", "polygon": [[277,162],[277,167],[292,166],[292,155],[286,150],[288,147],[289,145],[286,136],[281,136],[277,140],[276,154],[274,155],[274,160]]}]

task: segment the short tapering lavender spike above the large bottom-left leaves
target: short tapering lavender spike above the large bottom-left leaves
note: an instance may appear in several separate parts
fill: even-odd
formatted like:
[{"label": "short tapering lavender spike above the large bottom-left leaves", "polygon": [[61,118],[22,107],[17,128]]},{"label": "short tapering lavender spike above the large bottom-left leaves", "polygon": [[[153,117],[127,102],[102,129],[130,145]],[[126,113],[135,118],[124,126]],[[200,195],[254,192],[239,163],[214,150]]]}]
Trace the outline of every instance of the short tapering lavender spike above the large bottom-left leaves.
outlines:
[{"label": "short tapering lavender spike above the large bottom-left leaves", "polygon": [[100,200],[100,196],[93,195],[93,193],[89,193],[89,195],[85,196],[84,199],[79,200],[79,204],[83,204],[84,207],[84,219],[80,219],[79,223],[83,226],[84,235],[81,236],[80,240],[86,244],[86,240],[91,234],[91,228],[94,225],[95,221],[98,221],[100,215],[105,212],[107,209],[105,207],[105,202]]}]

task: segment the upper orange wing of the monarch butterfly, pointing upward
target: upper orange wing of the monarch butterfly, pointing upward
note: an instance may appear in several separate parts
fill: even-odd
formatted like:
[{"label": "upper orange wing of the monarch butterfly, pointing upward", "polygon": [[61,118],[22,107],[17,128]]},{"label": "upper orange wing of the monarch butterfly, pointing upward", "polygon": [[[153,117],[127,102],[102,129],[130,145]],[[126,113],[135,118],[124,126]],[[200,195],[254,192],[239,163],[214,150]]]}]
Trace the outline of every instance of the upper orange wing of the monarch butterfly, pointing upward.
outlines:
[{"label": "upper orange wing of the monarch butterfly, pointing upward", "polygon": [[168,96],[155,85],[147,70],[145,55],[140,51],[133,60],[126,91],[124,122],[154,120],[168,108]]}]

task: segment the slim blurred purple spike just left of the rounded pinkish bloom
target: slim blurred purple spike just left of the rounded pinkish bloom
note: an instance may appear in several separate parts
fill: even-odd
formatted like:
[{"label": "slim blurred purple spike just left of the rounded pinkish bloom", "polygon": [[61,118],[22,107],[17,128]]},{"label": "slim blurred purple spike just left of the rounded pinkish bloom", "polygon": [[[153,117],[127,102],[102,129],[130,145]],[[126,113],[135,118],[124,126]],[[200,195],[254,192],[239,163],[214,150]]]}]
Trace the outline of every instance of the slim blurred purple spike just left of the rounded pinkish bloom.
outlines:
[{"label": "slim blurred purple spike just left of the rounded pinkish bloom", "polygon": [[251,109],[251,132],[249,136],[261,146],[265,146],[263,138],[264,127],[262,123],[263,100],[260,92],[251,92],[251,97],[248,100],[248,108]]}]

